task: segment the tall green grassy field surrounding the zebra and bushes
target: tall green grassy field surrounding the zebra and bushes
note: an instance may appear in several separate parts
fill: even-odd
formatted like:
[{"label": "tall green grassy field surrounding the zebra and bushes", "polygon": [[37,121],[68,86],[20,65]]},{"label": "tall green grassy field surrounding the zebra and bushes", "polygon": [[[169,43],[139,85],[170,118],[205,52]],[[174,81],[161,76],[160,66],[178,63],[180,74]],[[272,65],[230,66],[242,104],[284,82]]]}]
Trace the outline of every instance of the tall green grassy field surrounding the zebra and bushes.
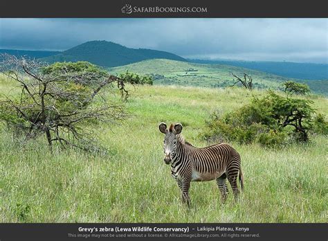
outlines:
[{"label": "tall green grassy field surrounding the zebra and bushes", "polygon": [[[0,90],[16,91],[3,79]],[[245,190],[239,202],[230,192],[222,205],[216,182],[208,181],[192,183],[190,210],[181,204],[163,161],[158,123],[181,122],[185,139],[206,146],[210,143],[199,133],[212,111],[225,113],[263,94],[237,88],[132,88],[131,117],[111,128],[94,127],[109,154],[55,148],[51,155],[44,139],[22,150],[1,127],[0,222],[327,222],[325,136],[275,150],[230,143],[242,156]],[[309,98],[328,114],[327,98]]]}]

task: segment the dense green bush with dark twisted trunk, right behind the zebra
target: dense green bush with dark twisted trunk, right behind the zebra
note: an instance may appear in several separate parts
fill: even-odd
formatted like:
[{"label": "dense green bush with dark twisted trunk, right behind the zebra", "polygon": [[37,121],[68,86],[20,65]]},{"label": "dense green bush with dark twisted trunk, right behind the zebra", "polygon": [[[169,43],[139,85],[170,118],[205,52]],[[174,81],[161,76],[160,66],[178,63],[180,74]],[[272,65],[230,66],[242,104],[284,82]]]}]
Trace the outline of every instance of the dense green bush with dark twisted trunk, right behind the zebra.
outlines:
[{"label": "dense green bush with dark twisted trunk, right behind the zebra", "polygon": [[287,141],[308,141],[309,131],[327,134],[325,118],[314,117],[311,100],[288,98],[268,91],[235,111],[210,116],[201,134],[208,141],[237,141],[260,145],[283,145]]}]

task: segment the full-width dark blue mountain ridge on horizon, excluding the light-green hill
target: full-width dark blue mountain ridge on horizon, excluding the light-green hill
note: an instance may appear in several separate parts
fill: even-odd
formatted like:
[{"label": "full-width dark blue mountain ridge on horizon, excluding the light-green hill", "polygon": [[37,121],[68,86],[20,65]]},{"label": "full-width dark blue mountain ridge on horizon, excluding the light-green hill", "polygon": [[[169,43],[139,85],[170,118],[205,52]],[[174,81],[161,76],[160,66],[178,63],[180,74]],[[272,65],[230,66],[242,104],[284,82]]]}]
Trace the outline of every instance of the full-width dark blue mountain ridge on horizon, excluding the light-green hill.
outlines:
[{"label": "full-width dark blue mountain ridge on horizon, excluding the light-green hill", "polygon": [[53,62],[88,61],[106,68],[125,66],[144,60],[166,59],[185,63],[238,66],[244,69],[253,69],[255,71],[279,75],[284,78],[316,81],[319,85],[322,85],[319,80],[328,80],[328,64],[241,60],[192,60],[185,59],[174,53],[148,48],[128,48],[127,46],[104,40],[84,42],[61,52],[0,49],[0,54],[1,53],[9,53],[16,56],[24,55],[37,58],[50,64]]}]

